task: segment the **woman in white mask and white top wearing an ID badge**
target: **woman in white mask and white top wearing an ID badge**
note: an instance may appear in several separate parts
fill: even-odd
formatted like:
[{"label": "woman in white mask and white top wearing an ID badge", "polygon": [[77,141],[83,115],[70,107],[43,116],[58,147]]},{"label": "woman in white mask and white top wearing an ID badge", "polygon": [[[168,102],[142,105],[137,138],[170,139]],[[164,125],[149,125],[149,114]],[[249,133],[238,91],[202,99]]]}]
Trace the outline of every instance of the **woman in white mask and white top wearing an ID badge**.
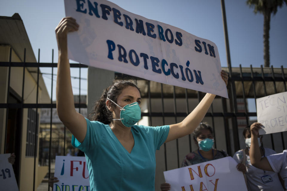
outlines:
[{"label": "woman in white mask and white top wearing an ID badge", "polygon": [[[278,173],[261,170],[252,166],[249,156],[251,146],[250,126],[245,127],[243,136],[245,138],[246,147],[245,149],[237,151],[233,155],[233,159],[238,163],[237,169],[245,174],[248,191],[284,190],[280,182],[281,177]],[[257,137],[257,142],[259,144],[261,157],[276,154],[274,150],[263,147],[262,135]]]}]

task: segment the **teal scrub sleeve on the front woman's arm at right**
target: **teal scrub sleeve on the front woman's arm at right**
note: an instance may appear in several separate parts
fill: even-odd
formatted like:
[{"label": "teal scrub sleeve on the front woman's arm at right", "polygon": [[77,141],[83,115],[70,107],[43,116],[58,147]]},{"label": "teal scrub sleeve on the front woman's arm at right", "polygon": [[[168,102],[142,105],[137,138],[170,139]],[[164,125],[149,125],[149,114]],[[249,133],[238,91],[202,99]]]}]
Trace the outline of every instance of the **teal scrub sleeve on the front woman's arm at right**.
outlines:
[{"label": "teal scrub sleeve on the front woman's arm at right", "polygon": [[159,150],[161,145],[167,139],[168,132],[170,131],[169,125],[152,127],[155,149]]}]

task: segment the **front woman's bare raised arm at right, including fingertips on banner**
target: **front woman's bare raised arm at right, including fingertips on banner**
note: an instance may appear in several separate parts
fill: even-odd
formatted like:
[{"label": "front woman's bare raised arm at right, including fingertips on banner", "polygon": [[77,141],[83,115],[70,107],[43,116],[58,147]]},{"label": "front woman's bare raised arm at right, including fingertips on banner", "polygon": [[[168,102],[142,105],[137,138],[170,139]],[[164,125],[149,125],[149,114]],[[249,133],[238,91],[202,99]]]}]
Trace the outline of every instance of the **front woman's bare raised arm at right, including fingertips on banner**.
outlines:
[{"label": "front woman's bare raised arm at right, including fingertips on banner", "polygon": [[[225,84],[227,85],[228,74],[224,70],[222,70],[221,76],[222,79],[225,81]],[[199,125],[199,123],[203,120],[214,98],[214,94],[207,93],[196,106],[196,108],[189,115],[187,115],[187,117],[184,118],[183,121],[177,124],[170,125],[170,131],[165,142],[169,142],[174,139],[191,134]]]}]

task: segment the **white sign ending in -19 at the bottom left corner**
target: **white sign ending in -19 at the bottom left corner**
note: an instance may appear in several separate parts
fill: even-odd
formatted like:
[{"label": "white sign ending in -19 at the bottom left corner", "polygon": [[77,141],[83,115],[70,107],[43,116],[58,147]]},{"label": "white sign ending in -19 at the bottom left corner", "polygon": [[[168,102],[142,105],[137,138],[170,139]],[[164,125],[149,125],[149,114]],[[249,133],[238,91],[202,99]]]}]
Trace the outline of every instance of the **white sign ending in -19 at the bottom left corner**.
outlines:
[{"label": "white sign ending in -19 at the bottom left corner", "polygon": [[9,154],[0,154],[0,190],[18,191],[12,164],[8,162]]}]

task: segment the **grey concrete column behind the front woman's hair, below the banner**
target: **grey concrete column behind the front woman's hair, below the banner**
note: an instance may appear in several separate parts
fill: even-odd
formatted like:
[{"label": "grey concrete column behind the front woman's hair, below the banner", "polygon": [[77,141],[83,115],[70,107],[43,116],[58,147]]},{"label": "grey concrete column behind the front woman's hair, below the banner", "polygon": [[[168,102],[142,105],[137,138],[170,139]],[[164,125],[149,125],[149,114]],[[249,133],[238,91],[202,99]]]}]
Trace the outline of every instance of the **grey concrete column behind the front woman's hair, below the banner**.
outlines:
[{"label": "grey concrete column behind the front woman's hair, below the banner", "polygon": [[88,67],[88,114],[91,113],[94,102],[102,96],[103,90],[112,84],[114,78],[114,71]]}]

